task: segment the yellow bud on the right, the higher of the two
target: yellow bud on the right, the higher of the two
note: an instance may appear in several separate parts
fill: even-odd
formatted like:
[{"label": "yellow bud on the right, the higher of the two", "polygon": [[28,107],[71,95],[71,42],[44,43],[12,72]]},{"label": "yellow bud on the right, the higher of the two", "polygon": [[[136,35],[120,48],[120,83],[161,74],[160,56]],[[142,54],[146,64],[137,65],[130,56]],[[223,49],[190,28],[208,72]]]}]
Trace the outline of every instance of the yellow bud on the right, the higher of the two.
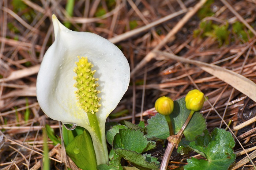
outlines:
[{"label": "yellow bud on the right, the higher of the two", "polygon": [[191,90],[188,92],[185,98],[186,108],[191,111],[197,112],[202,109],[204,101],[204,93],[200,92],[197,89]]}]

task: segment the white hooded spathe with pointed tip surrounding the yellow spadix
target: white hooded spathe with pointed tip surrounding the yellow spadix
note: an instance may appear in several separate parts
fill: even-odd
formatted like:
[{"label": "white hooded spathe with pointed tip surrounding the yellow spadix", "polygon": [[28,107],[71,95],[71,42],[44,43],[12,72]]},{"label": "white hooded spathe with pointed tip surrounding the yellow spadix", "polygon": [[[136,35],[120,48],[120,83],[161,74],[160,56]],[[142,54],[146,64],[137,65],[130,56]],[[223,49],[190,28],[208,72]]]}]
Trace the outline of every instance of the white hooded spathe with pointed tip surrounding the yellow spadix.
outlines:
[{"label": "white hooded spathe with pointed tip surrounding the yellow spadix", "polygon": [[[46,51],[37,77],[37,99],[42,110],[50,118],[63,123],[77,123],[86,127],[86,113],[76,105],[73,77],[76,73],[77,56],[88,57],[99,78],[101,107],[95,113],[101,124],[116,108],[126,92],[130,80],[130,69],[123,53],[107,39],[90,32],[68,30],[53,15],[55,41]],[[85,125],[87,124],[87,125]]]}]

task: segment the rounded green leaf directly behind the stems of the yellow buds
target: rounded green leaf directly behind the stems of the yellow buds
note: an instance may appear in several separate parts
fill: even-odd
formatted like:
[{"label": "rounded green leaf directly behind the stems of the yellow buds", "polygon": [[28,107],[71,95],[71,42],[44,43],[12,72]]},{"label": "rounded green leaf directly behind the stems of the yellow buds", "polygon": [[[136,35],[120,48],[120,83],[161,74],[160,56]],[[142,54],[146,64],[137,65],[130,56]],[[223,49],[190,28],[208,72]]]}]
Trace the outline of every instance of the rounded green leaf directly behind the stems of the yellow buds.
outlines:
[{"label": "rounded green leaf directly behind the stems of the yellow buds", "polygon": [[[185,97],[175,100],[173,112],[169,115],[173,125],[175,134],[180,131],[182,125],[185,123],[190,111],[186,108]],[[195,112],[189,121],[189,124],[183,132],[186,140],[195,140],[196,136],[202,135],[206,128],[206,120],[199,112]],[[146,126],[147,138],[149,139],[166,139],[169,136],[169,127],[165,116],[157,113],[148,120]]]}]

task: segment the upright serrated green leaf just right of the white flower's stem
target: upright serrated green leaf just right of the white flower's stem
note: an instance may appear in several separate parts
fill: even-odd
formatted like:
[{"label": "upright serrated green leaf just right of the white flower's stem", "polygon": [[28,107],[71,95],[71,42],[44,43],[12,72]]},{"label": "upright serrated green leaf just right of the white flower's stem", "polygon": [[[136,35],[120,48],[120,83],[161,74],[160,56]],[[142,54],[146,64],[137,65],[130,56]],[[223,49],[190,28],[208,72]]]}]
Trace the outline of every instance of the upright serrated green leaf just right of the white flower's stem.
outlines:
[{"label": "upright serrated green leaf just right of the white flower's stem", "polygon": [[148,141],[143,132],[132,129],[120,129],[119,134],[114,136],[113,148],[127,149],[142,153],[147,147]]}]

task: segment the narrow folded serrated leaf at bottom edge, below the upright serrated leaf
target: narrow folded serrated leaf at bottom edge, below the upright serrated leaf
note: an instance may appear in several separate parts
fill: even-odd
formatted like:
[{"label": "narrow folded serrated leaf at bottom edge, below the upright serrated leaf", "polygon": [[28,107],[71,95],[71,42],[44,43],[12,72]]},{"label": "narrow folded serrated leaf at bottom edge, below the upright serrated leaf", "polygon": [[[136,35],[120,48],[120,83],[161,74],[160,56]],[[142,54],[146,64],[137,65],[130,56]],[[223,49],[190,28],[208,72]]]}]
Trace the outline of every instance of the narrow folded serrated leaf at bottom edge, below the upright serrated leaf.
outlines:
[{"label": "narrow folded serrated leaf at bottom edge, below the upright serrated leaf", "polygon": [[[159,162],[155,162],[155,159],[151,157],[151,155],[142,155],[135,151],[126,150],[126,149],[120,149],[116,148],[114,151],[117,153],[117,155],[120,155],[127,161],[131,162],[133,166],[140,170],[158,170],[159,169]],[[148,161],[151,162],[148,162]]]}]

